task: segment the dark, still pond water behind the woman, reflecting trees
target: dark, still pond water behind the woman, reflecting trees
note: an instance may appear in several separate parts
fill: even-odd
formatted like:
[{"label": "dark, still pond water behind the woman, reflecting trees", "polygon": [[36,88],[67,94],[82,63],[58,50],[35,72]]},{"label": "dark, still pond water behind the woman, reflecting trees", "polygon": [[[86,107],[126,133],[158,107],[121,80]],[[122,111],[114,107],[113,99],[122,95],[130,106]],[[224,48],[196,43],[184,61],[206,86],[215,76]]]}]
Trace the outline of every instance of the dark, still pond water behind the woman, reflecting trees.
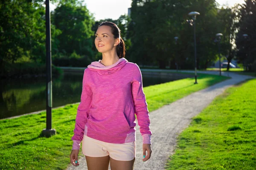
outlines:
[{"label": "dark, still pond water behind the woman, reflecting trees", "polygon": [[[177,79],[184,75],[161,76],[143,73],[143,87]],[[52,108],[80,102],[83,72],[64,72],[52,78]],[[46,109],[46,78],[1,80],[0,119]]]}]

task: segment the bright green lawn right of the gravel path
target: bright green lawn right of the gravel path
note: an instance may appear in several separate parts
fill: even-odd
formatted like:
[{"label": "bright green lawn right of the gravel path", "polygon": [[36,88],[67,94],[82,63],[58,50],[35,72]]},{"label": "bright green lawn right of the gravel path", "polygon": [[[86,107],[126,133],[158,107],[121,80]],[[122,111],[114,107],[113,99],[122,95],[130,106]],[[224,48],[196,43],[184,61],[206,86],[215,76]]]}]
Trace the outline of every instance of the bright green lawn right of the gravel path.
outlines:
[{"label": "bright green lawn right of the gravel path", "polygon": [[179,136],[167,170],[255,170],[256,79],[216,97]]}]

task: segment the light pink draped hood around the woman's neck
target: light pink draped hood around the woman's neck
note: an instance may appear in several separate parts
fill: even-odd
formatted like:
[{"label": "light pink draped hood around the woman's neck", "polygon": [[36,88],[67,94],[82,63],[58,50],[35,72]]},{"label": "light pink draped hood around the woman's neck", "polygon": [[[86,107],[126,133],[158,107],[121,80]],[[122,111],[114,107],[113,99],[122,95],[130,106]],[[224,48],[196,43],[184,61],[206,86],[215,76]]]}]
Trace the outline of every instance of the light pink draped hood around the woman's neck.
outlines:
[{"label": "light pink draped hood around the woman's neck", "polygon": [[101,60],[92,62],[90,65],[87,66],[87,68],[90,70],[93,70],[93,71],[97,71],[97,73],[102,76],[107,76],[107,75],[115,73],[116,71],[119,71],[128,62],[127,59],[120,58],[113,65],[105,66],[102,63],[100,63],[100,61]]}]

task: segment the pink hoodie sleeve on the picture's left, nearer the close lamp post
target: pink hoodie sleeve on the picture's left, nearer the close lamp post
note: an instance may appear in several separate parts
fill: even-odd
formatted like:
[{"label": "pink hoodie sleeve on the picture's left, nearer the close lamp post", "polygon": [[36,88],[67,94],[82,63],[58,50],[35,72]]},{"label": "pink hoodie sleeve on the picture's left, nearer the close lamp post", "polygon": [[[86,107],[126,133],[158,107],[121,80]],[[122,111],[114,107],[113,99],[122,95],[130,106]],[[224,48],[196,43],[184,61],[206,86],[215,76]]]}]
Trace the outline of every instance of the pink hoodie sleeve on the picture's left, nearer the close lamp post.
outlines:
[{"label": "pink hoodie sleeve on the picture's left, nearer the close lamp post", "polygon": [[71,140],[73,140],[72,150],[80,149],[80,143],[82,142],[84,137],[84,125],[87,122],[88,110],[90,109],[91,100],[92,100],[92,91],[90,89],[90,86],[87,84],[87,73],[84,70],[81,102],[77,108],[74,135],[71,138]]}]

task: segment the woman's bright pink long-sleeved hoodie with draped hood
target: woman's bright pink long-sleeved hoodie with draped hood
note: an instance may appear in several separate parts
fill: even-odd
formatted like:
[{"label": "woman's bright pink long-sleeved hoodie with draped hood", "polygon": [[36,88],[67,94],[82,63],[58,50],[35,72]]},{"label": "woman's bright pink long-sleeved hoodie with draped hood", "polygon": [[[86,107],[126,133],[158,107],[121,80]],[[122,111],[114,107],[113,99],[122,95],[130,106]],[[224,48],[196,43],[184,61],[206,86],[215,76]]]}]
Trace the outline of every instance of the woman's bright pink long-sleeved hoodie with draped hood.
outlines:
[{"label": "woman's bright pink long-sleeved hoodie with draped hood", "polygon": [[72,149],[80,148],[84,135],[108,143],[134,142],[134,113],[143,144],[151,144],[148,105],[139,66],[125,58],[109,66],[99,61],[84,70]]}]

